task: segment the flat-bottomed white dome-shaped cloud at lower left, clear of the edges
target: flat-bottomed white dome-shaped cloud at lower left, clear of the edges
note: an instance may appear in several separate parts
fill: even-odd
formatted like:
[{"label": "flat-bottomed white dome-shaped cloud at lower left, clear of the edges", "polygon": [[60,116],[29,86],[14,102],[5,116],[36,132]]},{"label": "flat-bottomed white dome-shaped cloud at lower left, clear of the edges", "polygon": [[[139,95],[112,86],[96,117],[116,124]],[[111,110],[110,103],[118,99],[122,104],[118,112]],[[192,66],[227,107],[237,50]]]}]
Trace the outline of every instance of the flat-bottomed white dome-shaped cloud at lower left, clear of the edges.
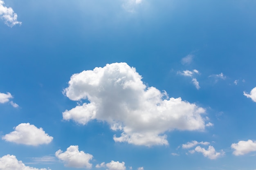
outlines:
[{"label": "flat-bottomed white dome-shaped cloud at lower left, clear of the edges", "polygon": [[2,139],[16,144],[38,146],[40,144],[49,144],[53,137],[45,133],[43,128],[37,128],[29,123],[22,123],[16,126],[13,132],[4,135]]}]

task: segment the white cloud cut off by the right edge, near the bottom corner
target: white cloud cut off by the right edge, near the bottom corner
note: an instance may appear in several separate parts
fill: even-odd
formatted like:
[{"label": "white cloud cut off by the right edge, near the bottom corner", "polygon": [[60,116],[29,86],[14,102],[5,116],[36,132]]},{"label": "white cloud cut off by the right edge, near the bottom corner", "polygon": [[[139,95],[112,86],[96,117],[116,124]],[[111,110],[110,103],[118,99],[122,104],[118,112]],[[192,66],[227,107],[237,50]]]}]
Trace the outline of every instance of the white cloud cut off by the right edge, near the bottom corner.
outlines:
[{"label": "white cloud cut off by the right edge, near the bottom corner", "polygon": [[237,144],[232,144],[231,148],[235,150],[233,152],[234,155],[245,155],[249,152],[256,151],[256,141],[239,141]]}]

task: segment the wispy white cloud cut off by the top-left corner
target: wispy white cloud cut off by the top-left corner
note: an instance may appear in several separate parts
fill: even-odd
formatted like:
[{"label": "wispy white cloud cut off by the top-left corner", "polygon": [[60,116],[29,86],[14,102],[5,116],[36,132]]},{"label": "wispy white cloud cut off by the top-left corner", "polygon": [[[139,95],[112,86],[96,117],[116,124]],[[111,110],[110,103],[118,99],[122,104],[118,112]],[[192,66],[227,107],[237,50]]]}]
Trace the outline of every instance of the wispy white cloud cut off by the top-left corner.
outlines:
[{"label": "wispy white cloud cut off by the top-left corner", "polygon": [[0,18],[4,20],[7,26],[13,27],[16,24],[21,24],[17,21],[18,15],[14,13],[11,7],[7,8],[4,6],[4,1],[0,0]]}]

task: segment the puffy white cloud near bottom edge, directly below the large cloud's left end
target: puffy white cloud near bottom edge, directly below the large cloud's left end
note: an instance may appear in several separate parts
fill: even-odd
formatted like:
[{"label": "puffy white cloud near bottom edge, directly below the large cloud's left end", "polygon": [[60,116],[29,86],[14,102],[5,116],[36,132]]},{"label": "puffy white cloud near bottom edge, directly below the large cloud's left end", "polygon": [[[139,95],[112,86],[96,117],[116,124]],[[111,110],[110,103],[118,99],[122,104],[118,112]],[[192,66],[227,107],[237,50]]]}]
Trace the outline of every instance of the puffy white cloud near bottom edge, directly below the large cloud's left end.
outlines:
[{"label": "puffy white cloud near bottom edge, directly below the large cloud's left end", "polygon": [[74,168],[92,168],[90,160],[93,158],[91,154],[78,150],[78,146],[70,146],[65,152],[58,150],[55,156],[64,161],[64,165]]}]

